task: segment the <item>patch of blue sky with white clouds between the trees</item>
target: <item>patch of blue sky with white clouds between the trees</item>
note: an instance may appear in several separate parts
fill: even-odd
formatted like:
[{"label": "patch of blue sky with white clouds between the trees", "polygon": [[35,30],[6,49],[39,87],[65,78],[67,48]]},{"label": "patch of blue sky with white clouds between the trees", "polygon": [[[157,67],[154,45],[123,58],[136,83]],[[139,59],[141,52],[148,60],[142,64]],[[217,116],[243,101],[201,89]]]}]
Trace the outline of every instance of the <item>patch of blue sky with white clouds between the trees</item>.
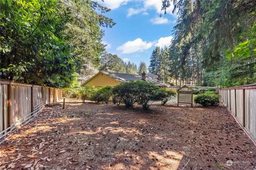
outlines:
[{"label": "patch of blue sky with white clouds between the trees", "polygon": [[116,25],[103,28],[107,52],[117,54],[125,62],[149,65],[150,55],[156,46],[169,46],[177,15],[172,7],[160,18],[162,0],[105,0],[101,4],[112,10],[106,14]]}]

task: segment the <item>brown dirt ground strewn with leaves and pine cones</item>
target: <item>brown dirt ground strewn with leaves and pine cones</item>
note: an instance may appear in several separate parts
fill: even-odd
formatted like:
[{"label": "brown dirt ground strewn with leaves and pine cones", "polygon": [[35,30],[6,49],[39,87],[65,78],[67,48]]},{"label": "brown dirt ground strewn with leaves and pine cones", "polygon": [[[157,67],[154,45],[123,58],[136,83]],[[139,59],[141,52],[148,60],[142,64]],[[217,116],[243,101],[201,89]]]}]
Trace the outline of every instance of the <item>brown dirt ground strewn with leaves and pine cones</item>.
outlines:
[{"label": "brown dirt ground strewn with leaves and pine cones", "polygon": [[0,169],[256,168],[256,147],[224,106],[45,107],[0,147]]}]

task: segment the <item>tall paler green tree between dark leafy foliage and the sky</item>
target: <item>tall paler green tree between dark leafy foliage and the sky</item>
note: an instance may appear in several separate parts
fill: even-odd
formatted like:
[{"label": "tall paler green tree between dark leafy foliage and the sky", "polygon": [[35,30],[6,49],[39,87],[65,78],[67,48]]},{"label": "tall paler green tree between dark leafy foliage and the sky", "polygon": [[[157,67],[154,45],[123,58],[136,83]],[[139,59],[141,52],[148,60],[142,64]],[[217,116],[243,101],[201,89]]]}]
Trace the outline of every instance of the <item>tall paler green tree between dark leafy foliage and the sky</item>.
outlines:
[{"label": "tall paler green tree between dark leafy foliage and the sky", "polygon": [[65,34],[68,44],[73,45],[76,56],[76,71],[87,75],[87,67],[98,67],[100,56],[105,52],[101,43],[104,35],[102,27],[113,27],[115,22],[105,13],[110,9],[98,2],[87,0],[59,0],[64,11],[70,11],[70,22],[66,24]]}]

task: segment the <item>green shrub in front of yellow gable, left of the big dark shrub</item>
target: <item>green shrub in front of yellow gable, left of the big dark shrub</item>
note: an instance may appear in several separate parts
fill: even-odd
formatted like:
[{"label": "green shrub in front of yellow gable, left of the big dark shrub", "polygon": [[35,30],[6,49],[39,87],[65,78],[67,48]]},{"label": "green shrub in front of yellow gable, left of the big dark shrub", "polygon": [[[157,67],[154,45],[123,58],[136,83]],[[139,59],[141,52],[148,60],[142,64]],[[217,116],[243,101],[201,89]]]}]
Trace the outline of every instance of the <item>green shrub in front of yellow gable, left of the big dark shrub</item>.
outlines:
[{"label": "green shrub in front of yellow gable, left of the big dark shrub", "polygon": [[109,98],[112,96],[112,87],[104,86],[95,90],[91,96],[91,100],[96,103],[108,103]]}]

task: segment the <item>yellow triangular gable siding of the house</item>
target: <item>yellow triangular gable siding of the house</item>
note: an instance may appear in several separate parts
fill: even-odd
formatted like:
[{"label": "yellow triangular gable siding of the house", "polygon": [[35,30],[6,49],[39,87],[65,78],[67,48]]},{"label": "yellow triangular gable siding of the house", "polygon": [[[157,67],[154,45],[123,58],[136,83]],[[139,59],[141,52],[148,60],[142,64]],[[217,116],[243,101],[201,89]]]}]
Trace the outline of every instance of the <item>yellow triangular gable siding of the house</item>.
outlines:
[{"label": "yellow triangular gable siding of the house", "polygon": [[106,74],[99,73],[95,75],[91,80],[87,81],[83,84],[83,86],[95,86],[95,87],[102,87],[102,86],[116,86],[120,84],[117,80],[109,77]]}]

